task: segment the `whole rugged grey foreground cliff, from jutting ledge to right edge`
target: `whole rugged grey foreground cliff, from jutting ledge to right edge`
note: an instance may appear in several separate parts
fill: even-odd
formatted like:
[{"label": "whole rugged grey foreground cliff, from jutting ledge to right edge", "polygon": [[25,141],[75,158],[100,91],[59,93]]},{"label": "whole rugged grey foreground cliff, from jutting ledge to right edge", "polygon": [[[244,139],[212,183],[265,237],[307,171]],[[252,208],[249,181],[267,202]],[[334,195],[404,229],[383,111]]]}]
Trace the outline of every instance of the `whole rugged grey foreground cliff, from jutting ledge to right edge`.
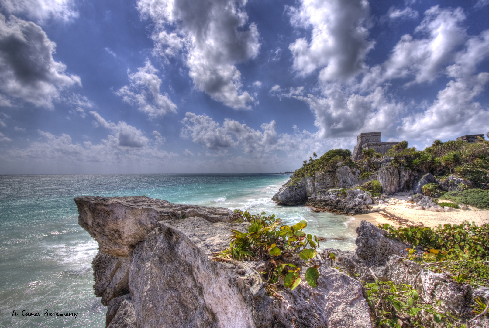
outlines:
[{"label": "whole rugged grey foreground cliff, from jutting ledge to right edge", "polygon": [[229,244],[229,229],[246,229],[232,222],[231,211],[148,197],[74,200],[80,225],[100,246],[93,260],[94,291],[107,305],[109,328],[372,328],[359,280],[372,282],[373,274],[417,285],[424,299],[441,298],[457,315],[467,313],[474,295],[489,299],[488,288],[454,284],[404,260],[412,245],[365,221],[357,228],[356,252],[324,250],[324,262],[330,251],[337,256],[331,266],[319,267],[316,288],[303,281],[293,291],[253,297],[232,265],[211,258]]}]

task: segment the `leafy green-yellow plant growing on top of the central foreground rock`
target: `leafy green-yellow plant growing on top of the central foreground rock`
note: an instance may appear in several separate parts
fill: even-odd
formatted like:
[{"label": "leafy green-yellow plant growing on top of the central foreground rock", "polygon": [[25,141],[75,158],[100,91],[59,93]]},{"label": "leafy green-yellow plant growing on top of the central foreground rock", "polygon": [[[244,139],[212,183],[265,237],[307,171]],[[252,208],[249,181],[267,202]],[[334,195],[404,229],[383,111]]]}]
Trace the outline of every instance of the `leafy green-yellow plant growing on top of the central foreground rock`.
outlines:
[{"label": "leafy green-yellow plant growing on top of the central foreground rock", "polygon": [[[301,269],[308,266],[305,279],[312,287],[317,286],[318,268],[324,264],[316,256],[319,241],[316,236],[302,231],[307,222],[302,220],[294,225],[286,225],[275,215],[265,212],[251,215],[248,211],[234,210],[233,220],[241,218],[248,222],[247,232],[231,230],[233,235],[229,247],[214,255],[220,258],[244,260],[264,260],[268,267],[263,271],[267,279],[266,288],[273,295],[280,280],[286,288],[293,290],[301,282]],[[309,246],[309,248],[308,248]],[[300,261],[294,260],[300,258]]]}]

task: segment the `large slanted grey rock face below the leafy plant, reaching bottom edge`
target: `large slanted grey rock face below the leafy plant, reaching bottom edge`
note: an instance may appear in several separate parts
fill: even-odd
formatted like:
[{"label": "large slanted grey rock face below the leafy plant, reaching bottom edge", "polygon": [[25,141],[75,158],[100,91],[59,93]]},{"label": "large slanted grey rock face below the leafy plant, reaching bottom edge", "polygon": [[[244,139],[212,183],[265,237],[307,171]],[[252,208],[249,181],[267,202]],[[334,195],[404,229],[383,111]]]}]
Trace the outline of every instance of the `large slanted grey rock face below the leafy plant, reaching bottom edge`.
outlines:
[{"label": "large slanted grey rock face below the leafy plant, reaching bottom edge", "polygon": [[[211,261],[182,233],[189,228],[180,226],[185,221],[159,222],[132,253],[129,280],[141,328],[372,327],[360,284],[351,277],[324,266],[317,288],[303,281],[283,292],[283,301],[255,298],[232,267]],[[230,227],[210,225],[220,226],[216,231]],[[213,234],[203,231],[193,237],[200,245]]]}]

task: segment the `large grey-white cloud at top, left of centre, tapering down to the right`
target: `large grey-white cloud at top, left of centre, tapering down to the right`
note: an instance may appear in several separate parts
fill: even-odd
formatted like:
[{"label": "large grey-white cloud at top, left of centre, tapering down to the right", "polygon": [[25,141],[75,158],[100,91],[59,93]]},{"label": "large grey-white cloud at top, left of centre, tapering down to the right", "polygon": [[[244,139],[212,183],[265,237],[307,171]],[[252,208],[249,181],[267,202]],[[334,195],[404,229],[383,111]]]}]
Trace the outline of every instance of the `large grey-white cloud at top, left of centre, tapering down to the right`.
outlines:
[{"label": "large grey-white cloud at top, left of centre, tapering down to the right", "polygon": [[[260,48],[256,24],[247,25],[245,0],[139,0],[143,18],[156,24],[155,52],[174,56],[184,46],[189,76],[212,99],[234,109],[256,100],[243,91],[236,64],[255,58]],[[167,32],[168,28],[174,31]]]}]

